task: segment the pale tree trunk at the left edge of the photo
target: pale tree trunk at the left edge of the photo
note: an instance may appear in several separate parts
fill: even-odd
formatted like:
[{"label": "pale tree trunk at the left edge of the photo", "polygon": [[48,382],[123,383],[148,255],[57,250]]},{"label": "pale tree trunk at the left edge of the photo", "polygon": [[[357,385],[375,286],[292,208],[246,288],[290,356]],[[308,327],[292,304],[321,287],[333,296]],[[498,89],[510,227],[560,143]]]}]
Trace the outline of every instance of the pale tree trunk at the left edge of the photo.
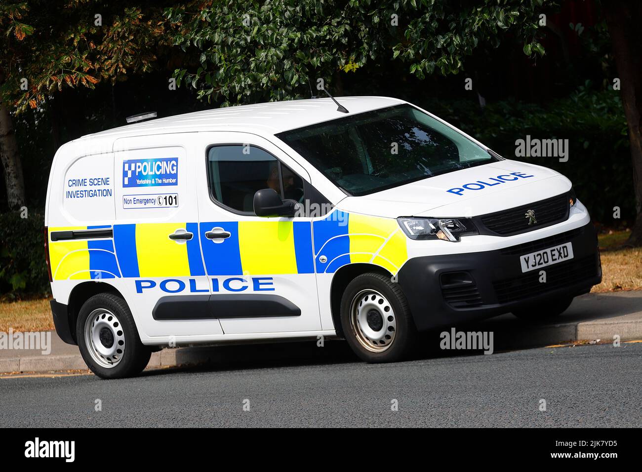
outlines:
[{"label": "pale tree trunk at the left edge of the photo", "polygon": [[24,205],[24,177],[9,109],[0,101],[0,160],[4,168],[6,197],[10,208]]}]

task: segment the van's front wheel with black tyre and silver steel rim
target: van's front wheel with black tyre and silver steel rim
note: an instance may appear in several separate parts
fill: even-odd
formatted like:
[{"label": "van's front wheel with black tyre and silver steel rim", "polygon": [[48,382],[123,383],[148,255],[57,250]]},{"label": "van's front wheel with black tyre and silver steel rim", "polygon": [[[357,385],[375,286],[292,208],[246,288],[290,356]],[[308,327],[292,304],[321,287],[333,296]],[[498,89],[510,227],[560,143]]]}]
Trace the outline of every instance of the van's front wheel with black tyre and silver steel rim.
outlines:
[{"label": "van's front wheel with black tyre and silver steel rim", "polygon": [[408,302],[390,277],[355,277],[341,299],[341,324],[348,344],[366,362],[396,362],[413,349],[417,329]]}]

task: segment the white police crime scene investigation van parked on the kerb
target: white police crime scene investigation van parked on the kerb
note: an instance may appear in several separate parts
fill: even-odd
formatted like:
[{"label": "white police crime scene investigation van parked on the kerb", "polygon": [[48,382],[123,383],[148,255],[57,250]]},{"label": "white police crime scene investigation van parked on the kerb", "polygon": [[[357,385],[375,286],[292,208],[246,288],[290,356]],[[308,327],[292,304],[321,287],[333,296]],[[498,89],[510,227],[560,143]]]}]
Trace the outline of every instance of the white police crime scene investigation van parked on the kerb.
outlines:
[{"label": "white police crime scene investigation van parked on the kerb", "polygon": [[93,372],[137,374],[173,345],[318,337],[394,362],[421,331],[550,318],[600,283],[566,177],[403,100],[333,100],[152,119],[56,152],[51,310]]}]

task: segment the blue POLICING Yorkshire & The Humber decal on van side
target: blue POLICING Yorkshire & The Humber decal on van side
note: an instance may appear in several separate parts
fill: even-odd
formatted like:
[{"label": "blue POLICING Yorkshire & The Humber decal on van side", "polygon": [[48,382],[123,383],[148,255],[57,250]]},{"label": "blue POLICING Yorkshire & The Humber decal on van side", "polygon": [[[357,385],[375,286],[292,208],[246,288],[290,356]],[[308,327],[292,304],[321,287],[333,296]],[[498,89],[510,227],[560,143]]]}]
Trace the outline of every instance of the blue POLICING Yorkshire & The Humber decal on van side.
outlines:
[{"label": "blue POLICING Yorkshire & The Humber decal on van side", "polygon": [[123,161],[123,187],[178,185],[178,157]]}]

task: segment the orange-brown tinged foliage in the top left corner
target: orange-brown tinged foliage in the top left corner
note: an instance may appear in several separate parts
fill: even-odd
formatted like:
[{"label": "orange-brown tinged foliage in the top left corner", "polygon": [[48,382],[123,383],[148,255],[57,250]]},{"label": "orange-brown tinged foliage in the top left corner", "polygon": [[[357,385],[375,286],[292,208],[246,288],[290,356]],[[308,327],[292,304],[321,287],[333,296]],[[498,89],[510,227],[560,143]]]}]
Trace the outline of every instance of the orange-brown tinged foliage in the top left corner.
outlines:
[{"label": "orange-brown tinged foliage in the top left corner", "polygon": [[0,2],[0,99],[22,112],[64,87],[93,89],[152,70],[158,49],[169,46],[162,7],[152,0]]}]

